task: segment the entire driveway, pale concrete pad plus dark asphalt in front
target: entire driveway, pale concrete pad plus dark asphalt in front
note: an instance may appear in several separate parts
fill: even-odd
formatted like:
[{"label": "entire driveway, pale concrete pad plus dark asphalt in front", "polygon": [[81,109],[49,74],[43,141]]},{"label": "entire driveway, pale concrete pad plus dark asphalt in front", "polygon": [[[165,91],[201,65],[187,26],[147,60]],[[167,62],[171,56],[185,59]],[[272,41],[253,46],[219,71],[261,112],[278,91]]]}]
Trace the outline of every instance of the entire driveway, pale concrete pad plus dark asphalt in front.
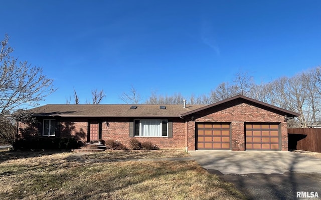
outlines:
[{"label": "entire driveway, pale concrete pad plus dark asphalt in front", "polygon": [[321,198],[319,158],[281,151],[199,150],[190,154],[210,173],[234,183],[249,199],[300,199],[296,198],[298,191],[317,192]]}]

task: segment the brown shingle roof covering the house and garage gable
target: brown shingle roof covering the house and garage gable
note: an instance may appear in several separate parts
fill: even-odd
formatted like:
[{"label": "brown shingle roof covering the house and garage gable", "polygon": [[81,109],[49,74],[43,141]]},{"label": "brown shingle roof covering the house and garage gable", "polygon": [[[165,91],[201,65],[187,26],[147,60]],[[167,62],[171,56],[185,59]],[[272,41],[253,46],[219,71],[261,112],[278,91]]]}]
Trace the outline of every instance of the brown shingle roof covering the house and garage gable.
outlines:
[{"label": "brown shingle roof covering the house and garage gable", "polygon": [[[36,117],[185,117],[197,112],[202,112],[209,108],[235,101],[236,99],[241,99],[248,104],[256,105],[280,115],[287,115],[288,117],[299,116],[298,113],[287,111],[243,95],[237,95],[211,105],[187,105],[186,108],[183,108],[183,105],[135,105],[137,106],[136,109],[130,109],[133,105],[49,104],[29,111],[35,113]],[[166,109],[159,109],[159,106],[166,106]]]}]

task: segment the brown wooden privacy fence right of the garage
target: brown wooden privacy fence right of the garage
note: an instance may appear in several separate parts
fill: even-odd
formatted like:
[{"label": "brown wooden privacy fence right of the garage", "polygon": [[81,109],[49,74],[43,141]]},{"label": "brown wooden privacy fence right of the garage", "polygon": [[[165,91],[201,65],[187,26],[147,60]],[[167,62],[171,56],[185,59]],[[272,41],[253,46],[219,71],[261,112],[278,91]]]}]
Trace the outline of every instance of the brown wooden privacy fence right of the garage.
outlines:
[{"label": "brown wooden privacy fence right of the garage", "polygon": [[287,129],[289,150],[321,152],[321,128]]}]

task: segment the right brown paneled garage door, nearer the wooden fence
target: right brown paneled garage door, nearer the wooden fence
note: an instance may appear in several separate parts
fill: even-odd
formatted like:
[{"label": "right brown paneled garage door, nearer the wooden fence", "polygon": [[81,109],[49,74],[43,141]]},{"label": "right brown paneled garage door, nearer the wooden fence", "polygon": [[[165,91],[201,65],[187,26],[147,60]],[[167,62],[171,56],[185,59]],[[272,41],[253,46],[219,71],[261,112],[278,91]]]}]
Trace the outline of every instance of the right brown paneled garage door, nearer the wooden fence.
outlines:
[{"label": "right brown paneled garage door, nearer the wooden fence", "polygon": [[278,124],[246,124],[246,150],[280,150]]}]

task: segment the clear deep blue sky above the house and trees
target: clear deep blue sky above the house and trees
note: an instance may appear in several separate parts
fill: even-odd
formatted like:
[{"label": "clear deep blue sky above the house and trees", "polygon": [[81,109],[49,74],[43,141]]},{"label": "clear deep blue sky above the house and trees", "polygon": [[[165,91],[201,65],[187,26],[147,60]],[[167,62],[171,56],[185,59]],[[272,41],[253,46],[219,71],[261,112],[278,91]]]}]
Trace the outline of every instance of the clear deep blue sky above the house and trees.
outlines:
[{"label": "clear deep blue sky above the house and trees", "polygon": [[43,67],[58,90],[45,104],[80,103],[103,89],[103,104],[133,85],[189,97],[243,71],[256,82],[321,64],[321,1],[1,0],[0,37],[14,56]]}]

